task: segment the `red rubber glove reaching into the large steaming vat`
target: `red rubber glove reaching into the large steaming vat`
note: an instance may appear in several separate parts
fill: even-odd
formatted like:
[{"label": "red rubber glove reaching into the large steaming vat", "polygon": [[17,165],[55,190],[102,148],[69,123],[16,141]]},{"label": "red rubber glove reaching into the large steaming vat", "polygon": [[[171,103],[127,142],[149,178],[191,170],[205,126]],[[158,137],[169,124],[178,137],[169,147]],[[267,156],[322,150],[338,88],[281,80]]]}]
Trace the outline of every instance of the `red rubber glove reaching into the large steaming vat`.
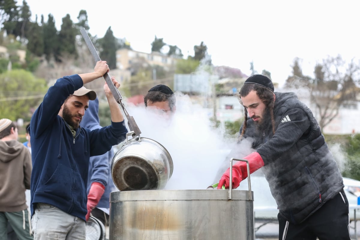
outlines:
[{"label": "red rubber glove reaching into the large steaming vat", "polygon": [[[255,172],[257,169],[264,166],[264,161],[262,161],[262,157],[257,152],[253,152],[250,155],[244,157],[244,159],[248,160],[250,174]],[[233,189],[239,187],[240,182],[247,178],[247,168],[246,162],[239,161],[238,163],[233,165]],[[226,189],[230,187],[230,168],[226,170],[222,177],[220,178],[219,185],[217,185],[217,189],[221,189],[223,185],[225,185]]]}]

